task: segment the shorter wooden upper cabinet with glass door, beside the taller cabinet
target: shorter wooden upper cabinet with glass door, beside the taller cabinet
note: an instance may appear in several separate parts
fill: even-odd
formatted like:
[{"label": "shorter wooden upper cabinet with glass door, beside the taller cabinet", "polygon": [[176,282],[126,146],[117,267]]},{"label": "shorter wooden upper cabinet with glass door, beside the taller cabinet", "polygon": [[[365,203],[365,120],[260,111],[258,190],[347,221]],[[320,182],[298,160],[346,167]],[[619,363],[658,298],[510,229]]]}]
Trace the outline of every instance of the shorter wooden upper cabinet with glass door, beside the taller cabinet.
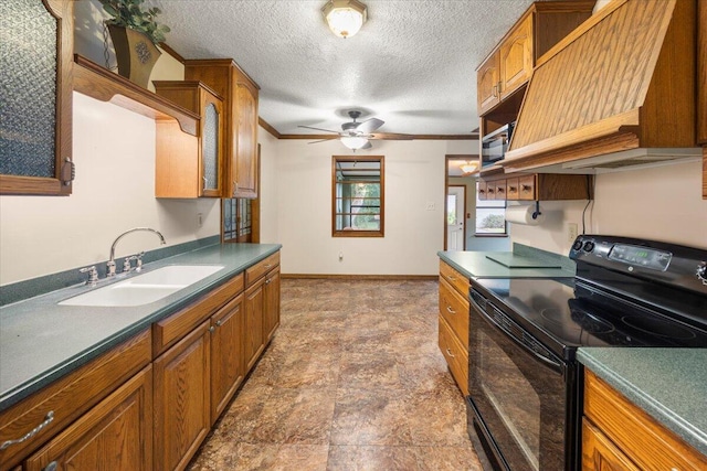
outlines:
[{"label": "shorter wooden upper cabinet with glass door, beside the taller cabinet", "polygon": [[[223,99],[196,81],[154,81],[158,95],[199,115],[197,141],[179,124],[157,121],[155,196],[220,197],[223,194]],[[196,149],[194,149],[196,144]]]}]

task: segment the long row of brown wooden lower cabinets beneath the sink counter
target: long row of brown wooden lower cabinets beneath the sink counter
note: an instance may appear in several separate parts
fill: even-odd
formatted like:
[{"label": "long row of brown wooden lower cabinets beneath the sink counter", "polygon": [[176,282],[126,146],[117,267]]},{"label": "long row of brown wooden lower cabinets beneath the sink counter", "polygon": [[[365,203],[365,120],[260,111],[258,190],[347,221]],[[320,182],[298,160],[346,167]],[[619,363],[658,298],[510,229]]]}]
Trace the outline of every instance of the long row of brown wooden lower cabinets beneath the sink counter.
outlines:
[{"label": "long row of brown wooden lower cabinets beneath the sink counter", "polygon": [[0,471],[186,469],[278,324],[273,254],[0,413]]}]

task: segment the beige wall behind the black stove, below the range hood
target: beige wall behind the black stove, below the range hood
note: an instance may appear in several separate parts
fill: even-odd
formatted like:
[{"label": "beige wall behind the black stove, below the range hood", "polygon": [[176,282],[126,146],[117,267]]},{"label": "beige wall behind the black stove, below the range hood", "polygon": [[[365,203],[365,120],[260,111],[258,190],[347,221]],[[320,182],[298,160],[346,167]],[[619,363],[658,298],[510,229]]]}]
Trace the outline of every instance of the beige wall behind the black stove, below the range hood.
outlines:
[{"label": "beige wall behind the black stove, below the range hood", "polygon": [[[587,233],[639,237],[707,249],[707,201],[701,199],[701,162],[597,175]],[[567,255],[567,224],[582,231],[585,201],[540,203],[542,226],[513,224],[513,242]]]}]

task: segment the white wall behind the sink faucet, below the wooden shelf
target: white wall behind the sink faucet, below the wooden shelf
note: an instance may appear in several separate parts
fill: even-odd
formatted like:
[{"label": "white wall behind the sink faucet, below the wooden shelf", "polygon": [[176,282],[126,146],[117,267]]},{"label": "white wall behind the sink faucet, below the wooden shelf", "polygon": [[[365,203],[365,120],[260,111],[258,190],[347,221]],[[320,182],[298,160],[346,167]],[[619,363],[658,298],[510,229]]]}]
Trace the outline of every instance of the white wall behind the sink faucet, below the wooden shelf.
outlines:
[{"label": "white wall behind the sink faucet, below the wooden shelf", "polygon": [[[73,146],[71,196],[0,196],[0,285],[106,260],[136,226],[168,245],[219,234],[219,200],[155,199],[154,120],[74,93]],[[116,255],[157,247],[154,234],[136,233]]]}]

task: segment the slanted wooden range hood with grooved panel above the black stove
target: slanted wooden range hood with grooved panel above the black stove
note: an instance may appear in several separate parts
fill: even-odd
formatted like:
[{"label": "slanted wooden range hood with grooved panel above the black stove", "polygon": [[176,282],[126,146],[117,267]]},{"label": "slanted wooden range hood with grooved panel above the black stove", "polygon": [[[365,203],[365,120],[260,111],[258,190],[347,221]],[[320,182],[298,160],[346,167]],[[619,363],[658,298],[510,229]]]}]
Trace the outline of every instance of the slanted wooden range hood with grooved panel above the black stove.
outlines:
[{"label": "slanted wooden range hood with grooved panel above the black stove", "polygon": [[614,0],[582,23],[538,61],[504,170],[594,173],[701,156],[696,18],[695,0]]}]

